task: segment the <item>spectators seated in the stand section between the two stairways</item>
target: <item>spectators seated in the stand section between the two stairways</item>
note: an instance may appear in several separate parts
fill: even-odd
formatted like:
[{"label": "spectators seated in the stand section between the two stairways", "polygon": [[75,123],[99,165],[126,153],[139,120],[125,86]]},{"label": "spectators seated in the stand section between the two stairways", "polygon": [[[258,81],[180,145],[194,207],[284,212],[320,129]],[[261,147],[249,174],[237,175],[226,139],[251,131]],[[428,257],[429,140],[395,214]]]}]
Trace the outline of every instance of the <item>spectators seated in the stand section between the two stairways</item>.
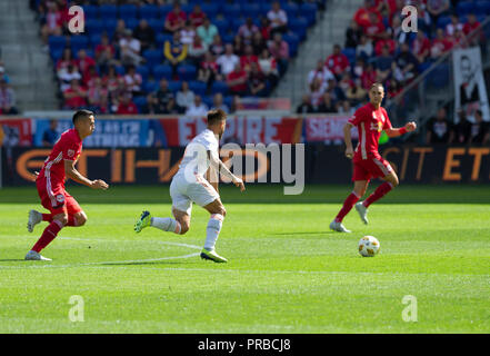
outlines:
[{"label": "spectators seated in the stand section between the two stairways", "polygon": [[[169,6],[160,0],[71,3]],[[171,11],[160,19],[161,27],[157,23],[156,29],[143,17],[137,19],[136,26],[119,18],[113,33],[103,31],[100,41],[89,48],[73,47],[71,42],[74,36],[67,29],[67,0],[37,0],[33,7],[47,49],[52,37],[68,38],[61,58],[56,59],[63,109],[89,107],[102,113],[198,112],[207,103],[212,105],[217,93],[224,96],[231,107],[234,96],[269,96],[290,61],[291,49],[283,38],[290,33],[289,19],[279,1],[273,1],[259,19],[243,18],[232,33],[222,33],[212,22],[220,21],[219,14],[208,17],[199,2],[187,7],[186,12],[174,1]],[[231,23],[236,19],[228,20]],[[161,56],[157,62],[146,56],[154,51]],[[170,71],[156,75],[156,67]],[[196,76],[187,78],[188,70],[194,70]],[[164,87],[163,91],[169,92],[162,96]]]}]

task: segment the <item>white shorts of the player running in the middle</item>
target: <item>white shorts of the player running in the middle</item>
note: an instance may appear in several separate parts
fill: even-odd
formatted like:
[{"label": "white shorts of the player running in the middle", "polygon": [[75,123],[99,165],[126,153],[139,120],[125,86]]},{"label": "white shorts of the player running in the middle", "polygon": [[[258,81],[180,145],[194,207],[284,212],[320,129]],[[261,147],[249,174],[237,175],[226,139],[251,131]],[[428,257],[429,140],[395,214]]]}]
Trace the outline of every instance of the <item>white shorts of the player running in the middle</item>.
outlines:
[{"label": "white shorts of the player running in the middle", "polygon": [[200,176],[189,181],[183,175],[176,175],[170,184],[170,197],[173,208],[191,215],[192,202],[204,207],[220,196],[209,181]]}]

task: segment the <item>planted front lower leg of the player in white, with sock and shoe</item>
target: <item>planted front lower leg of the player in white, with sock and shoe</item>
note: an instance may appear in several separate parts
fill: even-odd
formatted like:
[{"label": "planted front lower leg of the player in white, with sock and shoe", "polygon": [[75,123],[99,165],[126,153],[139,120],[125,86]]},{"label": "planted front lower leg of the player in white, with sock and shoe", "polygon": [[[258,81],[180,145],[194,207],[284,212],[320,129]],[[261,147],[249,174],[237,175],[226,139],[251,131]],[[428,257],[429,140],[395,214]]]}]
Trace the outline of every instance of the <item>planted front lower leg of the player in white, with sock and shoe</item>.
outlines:
[{"label": "planted front lower leg of the player in white, with sock and shoe", "polygon": [[220,235],[227,210],[224,209],[221,199],[218,197],[212,202],[203,206],[211,215],[206,227],[206,243],[201,251],[201,258],[210,259],[216,263],[227,263],[228,259],[217,254],[214,250],[216,241]]}]

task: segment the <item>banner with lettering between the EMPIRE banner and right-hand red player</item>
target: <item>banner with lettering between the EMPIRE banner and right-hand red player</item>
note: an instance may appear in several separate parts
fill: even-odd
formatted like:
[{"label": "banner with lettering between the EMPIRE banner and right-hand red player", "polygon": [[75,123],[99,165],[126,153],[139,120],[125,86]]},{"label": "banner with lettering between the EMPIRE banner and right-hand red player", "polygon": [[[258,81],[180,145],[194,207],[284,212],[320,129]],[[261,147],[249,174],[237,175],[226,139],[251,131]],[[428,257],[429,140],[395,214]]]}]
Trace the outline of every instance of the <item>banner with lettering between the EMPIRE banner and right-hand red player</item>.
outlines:
[{"label": "banner with lettering between the EMPIRE banner and right-hand red player", "polygon": [[[343,140],[343,126],[349,117],[306,118],[307,142]],[[358,139],[358,130],[351,130],[352,139]]]}]

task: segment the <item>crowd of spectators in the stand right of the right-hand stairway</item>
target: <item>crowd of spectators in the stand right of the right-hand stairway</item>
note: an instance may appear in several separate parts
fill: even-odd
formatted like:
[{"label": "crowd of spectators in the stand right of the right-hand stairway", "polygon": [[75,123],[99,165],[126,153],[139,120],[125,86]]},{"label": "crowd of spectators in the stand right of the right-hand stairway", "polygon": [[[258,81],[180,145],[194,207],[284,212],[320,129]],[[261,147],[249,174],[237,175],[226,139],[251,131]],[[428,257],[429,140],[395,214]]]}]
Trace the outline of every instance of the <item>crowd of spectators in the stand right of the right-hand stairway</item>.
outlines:
[{"label": "crowd of spectators in the stand right of the right-hand stairway", "polygon": [[[458,0],[364,0],[336,44],[308,76],[308,91],[298,112],[346,112],[367,102],[367,90],[379,81],[386,97],[396,97],[418,75],[452,48],[483,46],[481,18],[458,14]],[[401,29],[402,9],[417,9],[418,32]],[[483,16],[484,17],[484,16]],[[448,73],[449,75],[449,73]]]}]

